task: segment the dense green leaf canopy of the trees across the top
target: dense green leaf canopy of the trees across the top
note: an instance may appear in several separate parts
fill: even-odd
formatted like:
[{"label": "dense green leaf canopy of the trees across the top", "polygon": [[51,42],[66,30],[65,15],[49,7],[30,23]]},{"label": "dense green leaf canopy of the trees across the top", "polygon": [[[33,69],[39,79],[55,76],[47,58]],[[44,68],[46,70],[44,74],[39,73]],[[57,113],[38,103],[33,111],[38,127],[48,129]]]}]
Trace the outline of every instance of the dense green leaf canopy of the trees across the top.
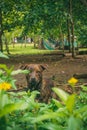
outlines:
[{"label": "dense green leaf canopy of the trees across the top", "polygon": [[[72,16],[69,2],[72,2]],[[67,35],[67,19],[74,21],[74,35],[86,45],[86,0],[1,0],[0,1],[0,50],[5,31],[22,28],[22,34],[59,38]]]}]

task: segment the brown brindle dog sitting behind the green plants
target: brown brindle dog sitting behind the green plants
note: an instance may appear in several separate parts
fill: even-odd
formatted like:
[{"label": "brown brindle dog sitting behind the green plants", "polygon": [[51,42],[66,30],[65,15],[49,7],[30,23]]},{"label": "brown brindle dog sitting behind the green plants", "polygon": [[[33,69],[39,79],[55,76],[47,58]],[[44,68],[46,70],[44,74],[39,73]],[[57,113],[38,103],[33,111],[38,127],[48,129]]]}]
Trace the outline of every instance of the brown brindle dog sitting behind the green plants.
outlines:
[{"label": "brown brindle dog sitting behind the green plants", "polygon": [[51,79],[45,79],[42,73],[47,69],[47,65],[42,64],[25,64],[21,69],[29,70],[26,75],[27,86],[30,91],[38,90],[40,92],[39,101],[48,103],[52,97],[52,87],[54,83]]}]

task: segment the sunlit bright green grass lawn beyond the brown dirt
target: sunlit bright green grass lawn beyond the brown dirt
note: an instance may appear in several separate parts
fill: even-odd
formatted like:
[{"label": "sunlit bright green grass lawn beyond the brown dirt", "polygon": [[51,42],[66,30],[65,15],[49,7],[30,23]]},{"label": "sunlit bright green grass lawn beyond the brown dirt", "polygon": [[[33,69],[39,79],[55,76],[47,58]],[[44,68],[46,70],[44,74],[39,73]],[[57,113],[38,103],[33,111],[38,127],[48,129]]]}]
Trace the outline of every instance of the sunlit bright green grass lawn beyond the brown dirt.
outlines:
[{"label": "sunlit bright green grass lawn beyond the brown dirt", "polygon": [[[34,48],[33,44],[26,44],[25,45],[21,45],[21,44],[15,44],[15,46],[13,47],[13,45],[9,45],[9,51],[12,55],[20,55],[20,54],[50,54],[52,52],[59,52],[59,50],[40,50],[38,48]],[[4,53],[6,54],[6,49],[4,47]]]}]

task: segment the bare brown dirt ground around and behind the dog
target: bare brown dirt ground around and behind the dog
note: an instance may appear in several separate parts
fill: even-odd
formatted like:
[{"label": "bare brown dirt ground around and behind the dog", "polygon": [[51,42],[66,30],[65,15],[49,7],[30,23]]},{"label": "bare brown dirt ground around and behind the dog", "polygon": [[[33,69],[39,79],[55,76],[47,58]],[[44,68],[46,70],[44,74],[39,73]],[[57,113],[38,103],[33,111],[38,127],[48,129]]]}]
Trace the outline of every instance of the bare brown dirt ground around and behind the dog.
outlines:
[{"label": "bare brown dirt ground around and behind the dog", "polygon": [[[19,69],[20,64],[37,63],[47,64],[48,69],[43,72],[43,77],[53,77],[55,86],[63,87],[70,92],[68,80],[73,74],[87,73],[87,55],[78,55],[75,59],[70,54],[62,55],[17,55],[11,56],[9,60],[0,58],[0,63],[5,63],[8,67],[14,65],[14,70]],[[14,77],[17,87],[26,87],[24,74],[18,74]],[[87,78],[79,79],[79,84],[87,85]]]}]

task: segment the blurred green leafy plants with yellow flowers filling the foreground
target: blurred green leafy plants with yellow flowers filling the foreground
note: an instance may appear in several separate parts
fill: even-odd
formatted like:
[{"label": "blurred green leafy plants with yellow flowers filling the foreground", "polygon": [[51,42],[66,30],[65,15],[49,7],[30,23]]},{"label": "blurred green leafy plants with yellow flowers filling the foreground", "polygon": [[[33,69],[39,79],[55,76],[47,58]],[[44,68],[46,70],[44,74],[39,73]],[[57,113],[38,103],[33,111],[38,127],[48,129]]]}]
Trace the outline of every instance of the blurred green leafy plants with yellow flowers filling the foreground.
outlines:
[{"label": "blurred green leafy plants with yellow flowers filling the foreground", "polygon": [[[87,88],[81,86],[78,95],[69,95],[60,88],[53,88],[58,98],[49,104],[37,100],[39,92],[8,92],[13,75],[27,71],[13,70],[0,65],[0,129],[1,130],[86,130],[87,129]],[[2,83],[6,82],[4,85]],[[75,83],[70,80],[70,83]],[[9,83],[9,84],[7,84]],[[6,89],[3,89],[3,86]],[[75,84],[74,86],[75,87]]]}]

